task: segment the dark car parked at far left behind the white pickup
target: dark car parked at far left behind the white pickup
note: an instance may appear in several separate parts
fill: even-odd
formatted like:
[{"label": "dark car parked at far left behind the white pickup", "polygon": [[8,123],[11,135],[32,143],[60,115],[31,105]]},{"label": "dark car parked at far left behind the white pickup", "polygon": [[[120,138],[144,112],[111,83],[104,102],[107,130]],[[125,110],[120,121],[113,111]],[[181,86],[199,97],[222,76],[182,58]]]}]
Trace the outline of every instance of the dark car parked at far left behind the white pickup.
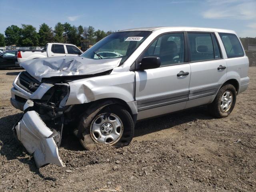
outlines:
[{"label": "dark car parked at far left behind the white pickup", "polygon": [[17,68],[17,50],[8,50],[0,53],[0,68]]}]

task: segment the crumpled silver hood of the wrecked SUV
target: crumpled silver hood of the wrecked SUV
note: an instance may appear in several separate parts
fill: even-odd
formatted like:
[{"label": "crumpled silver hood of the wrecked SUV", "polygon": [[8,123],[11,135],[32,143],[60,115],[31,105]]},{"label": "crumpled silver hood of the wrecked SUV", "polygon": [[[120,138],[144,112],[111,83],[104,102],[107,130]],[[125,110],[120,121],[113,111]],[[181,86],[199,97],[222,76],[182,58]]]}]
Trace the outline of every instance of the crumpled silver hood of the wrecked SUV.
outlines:
[{"label": "crumpled silver hood of the wrecked SUV", "polygon": [[122,58],[89,59],[80,56],[38,58],[20,64],[31,76],[41,81],[54,76],[90,75],[105,72],[120,64]]}]

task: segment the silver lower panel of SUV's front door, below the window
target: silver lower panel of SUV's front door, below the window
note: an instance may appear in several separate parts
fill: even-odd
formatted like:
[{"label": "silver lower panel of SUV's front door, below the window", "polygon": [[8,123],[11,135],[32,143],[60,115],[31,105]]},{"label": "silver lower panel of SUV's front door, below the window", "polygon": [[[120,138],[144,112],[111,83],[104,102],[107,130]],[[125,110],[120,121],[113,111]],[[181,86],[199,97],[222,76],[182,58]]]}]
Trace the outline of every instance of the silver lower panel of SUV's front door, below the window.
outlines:
[{"label": "silver lower panel of SUV's front door, below the window", "polygon": [[[189,75],[178,77],[180,71],[189,72]],[[154,108],[162,110],[162,114],[185,108],[189,93],[189,64],[137,71],[135,74],[138,120],[154,116]],[[176,105],[174,110],[170,105],[175,103],[180,104]],[[143,112],[144,110],[147,112]],[[159,112],[156,112],[156,115],[159,115]]]}]

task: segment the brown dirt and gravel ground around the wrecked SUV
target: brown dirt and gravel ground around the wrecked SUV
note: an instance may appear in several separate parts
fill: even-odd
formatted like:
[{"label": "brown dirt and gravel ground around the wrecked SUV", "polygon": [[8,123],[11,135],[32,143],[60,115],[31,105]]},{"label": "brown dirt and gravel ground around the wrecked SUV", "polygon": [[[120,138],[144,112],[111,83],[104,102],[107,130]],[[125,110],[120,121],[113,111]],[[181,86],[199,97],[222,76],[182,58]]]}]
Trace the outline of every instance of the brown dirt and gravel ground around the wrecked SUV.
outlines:
[{"label": "brown dirt and gravel ground around the wrecked SUV", "polygon": [[227,118],[205,106],[138,122],[130,146],[84,151],[66,134],[65,168],[37,169],[12,135],[21,112],[10,104],[20,70],[0,70],[0,191],[256,191],[256,67]]}]

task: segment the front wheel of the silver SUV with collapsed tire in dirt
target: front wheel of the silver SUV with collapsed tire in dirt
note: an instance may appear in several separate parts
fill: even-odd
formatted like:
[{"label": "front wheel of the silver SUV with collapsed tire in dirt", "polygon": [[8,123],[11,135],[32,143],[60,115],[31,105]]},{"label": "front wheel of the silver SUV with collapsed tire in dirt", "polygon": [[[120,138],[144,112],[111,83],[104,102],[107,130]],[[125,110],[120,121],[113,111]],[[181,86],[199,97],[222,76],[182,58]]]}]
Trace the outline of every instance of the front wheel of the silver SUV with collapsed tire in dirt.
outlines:
[{"label": "front wheel of the silver SUV with collapsed tire in dirt", "polygon": [[[93,117],[90,118],[89,126],[86,126],[84,120],[90,116]],[[111,145],[115,148],[127,146],[134,136],[132,116],[125,108],[116,104],[106,106],[96,115],[85,112],[78,129],[83,130],[80,143],[86,150],[91,150],[100,144]],[[109,133],[110,131],[112,132]],[[117,134],[120,134],[118,138]]]}]

